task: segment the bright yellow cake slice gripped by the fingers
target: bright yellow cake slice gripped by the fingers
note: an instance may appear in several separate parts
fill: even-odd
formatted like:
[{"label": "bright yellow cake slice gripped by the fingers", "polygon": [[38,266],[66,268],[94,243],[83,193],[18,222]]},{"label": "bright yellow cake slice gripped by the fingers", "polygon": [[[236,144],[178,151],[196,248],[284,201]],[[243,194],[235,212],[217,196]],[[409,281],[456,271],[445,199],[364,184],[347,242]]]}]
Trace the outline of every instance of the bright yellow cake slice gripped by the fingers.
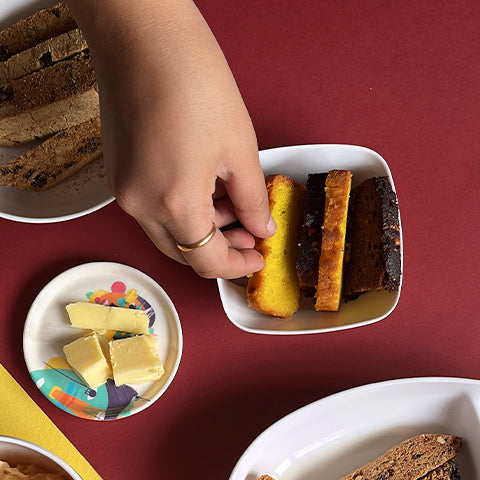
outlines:
[{"label": "bright yellow cake slice gripped by the fingers", "polygon": [[296,262],[305,187],[285,175],[269,175],[265,180],[277,231],[270,238],[256,241],[265,267],[250,277],[247,300],[249,307],[259,312],[289,318],[300,305]]}]

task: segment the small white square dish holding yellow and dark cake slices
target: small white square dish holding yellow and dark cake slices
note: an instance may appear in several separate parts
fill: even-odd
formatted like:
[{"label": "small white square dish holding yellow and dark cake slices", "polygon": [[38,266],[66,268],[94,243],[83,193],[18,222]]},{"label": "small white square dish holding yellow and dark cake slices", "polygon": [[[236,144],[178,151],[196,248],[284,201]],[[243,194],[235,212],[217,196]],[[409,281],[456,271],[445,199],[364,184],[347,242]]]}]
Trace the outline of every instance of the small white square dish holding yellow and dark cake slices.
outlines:
[{"label": "small white square dish holding yellow and dark cake slices", "polygon": [[[260,152],[265,175],[282,173],[305,184],[309,173],[332,169],[351,170],[352,186],[375,176],[387,176],[395,190],[390,169],[373,150],[354,145],[299,145],[273,148]],[[399,213],[400,222],[400,213]],[[403,272],[403,239],[400,227],[400,251]],[[342,302],[338,312],[317,312],[312,303],[304,305],[291,318],[280,319],[259,313],[248,307],[245,287],[229,280],[218,279],[223,308],[238,328],[269,335],[299,335],[326,333],[368,325],[382,320],[396,307],[400,287],[396,292],[369,292],[348,303]]]}]

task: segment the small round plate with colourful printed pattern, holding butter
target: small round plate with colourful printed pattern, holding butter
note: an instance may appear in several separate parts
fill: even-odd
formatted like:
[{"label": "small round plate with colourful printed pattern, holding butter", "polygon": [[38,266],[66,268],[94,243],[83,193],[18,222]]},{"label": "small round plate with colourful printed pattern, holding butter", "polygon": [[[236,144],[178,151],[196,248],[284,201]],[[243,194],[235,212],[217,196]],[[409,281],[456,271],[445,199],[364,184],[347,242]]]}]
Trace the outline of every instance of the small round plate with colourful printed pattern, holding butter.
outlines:
[{"label": "small round plate with colourful printed pattern, holding butter", "polygon": [[[165,368],[155,382],[116,387],[109,380],[93,390],[67,364],[63,346],[85,334],[73,328],[65,306],[91,301],[147,311]],[[80,418],[115,420],[138,413],[158,400],[180,364],[183,337],[178,314],[165,291],[135,268],[110,262],[79,265],[50,281],[33,302],[25,322],[25,361],[40,391],[54,405]]]}]

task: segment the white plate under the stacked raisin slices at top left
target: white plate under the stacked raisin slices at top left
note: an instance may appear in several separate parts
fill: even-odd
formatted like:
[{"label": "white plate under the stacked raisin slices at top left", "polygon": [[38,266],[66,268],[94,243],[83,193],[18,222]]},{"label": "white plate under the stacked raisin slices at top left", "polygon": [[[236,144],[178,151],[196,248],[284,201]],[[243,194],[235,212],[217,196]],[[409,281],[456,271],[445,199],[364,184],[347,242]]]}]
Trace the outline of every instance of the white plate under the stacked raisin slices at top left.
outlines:
[{"label": "white plate under the stacked raisin slices at top left", "polygon": [[[54,3],[53,0],[2,0],[0,29]],[[0,147],[0,166],[32,147]],[[113,200],[103,159],[99,158],[45,192],[0,187],[0,217],[25,223],[61,222],[92,213]]]}]

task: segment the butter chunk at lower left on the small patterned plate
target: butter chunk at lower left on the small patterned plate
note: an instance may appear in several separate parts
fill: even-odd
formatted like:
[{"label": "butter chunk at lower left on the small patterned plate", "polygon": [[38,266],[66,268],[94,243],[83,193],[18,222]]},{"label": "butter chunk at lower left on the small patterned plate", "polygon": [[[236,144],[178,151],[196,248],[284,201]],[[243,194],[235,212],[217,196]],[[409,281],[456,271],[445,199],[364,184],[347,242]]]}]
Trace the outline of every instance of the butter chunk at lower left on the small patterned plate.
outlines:
[{"label": "butter chunk at lower left on the small patterned plate", "polygon": [[97,388],[112,378],[112,367],[95,332],[65,345],[63,352],[74,372],[90,388]]}]

